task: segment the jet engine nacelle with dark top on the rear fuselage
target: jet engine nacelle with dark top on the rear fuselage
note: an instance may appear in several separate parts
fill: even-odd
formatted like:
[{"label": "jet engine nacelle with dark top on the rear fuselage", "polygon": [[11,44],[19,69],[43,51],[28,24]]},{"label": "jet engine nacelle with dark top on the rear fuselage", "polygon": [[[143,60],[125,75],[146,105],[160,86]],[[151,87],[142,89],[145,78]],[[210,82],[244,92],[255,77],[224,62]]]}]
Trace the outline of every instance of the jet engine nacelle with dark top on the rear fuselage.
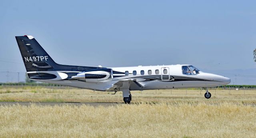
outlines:
[{"label": "jet engine nacelle with dark top on the rear fuselage", "polygon": [[100,68],[95,70],[87,70],[72,76],[72,79],[83,80],[85,82],[106,82],[113,78],[113,71],[111,68]]}]

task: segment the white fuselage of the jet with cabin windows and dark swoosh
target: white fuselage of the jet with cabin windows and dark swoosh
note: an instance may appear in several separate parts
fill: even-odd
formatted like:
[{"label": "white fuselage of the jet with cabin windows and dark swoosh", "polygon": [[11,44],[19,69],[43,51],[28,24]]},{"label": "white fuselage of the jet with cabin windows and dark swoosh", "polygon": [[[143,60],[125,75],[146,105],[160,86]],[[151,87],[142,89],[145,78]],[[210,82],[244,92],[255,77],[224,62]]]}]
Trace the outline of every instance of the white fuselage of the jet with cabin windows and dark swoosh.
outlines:
[{"label": "white fuselage of the jet with cabin windows and dark swoosh", "polygon": [[[48,71],[48,73],[51,72],[51,74],[55,74],[57,78],[55,78],[54,80],[36,81],[99,91],[106,91],[107,88],[120,80],[130,79],[136,80],[140,85],[143,86],[142,88],[138,88],[137,86],[130,86],[130,90],[202,88],[216,87],[230,83],[229,78],[216,74],[204,73],[202,71],[200,71],[198,74],[183,74],[182,66],[189,65],[135,66],[111,68],[113,70],[113,74],[111,74],[112,78],[105,81],[99,80],[98,82],[63,80],[65,77],[67,77],[67,75],[65,75],[65,72],[68,71]],[[126,72],[126,74],[115,74],[115,72]]]}]

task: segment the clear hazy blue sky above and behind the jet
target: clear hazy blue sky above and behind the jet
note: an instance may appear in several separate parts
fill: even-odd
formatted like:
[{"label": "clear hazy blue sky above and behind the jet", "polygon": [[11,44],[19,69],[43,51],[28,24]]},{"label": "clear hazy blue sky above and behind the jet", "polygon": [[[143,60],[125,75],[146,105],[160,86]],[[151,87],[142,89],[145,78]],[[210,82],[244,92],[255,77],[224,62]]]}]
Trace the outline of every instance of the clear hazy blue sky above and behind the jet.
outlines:
[{"label": "clear hazy blue sky above and behind the jet", "polygon": [[245,71],[256,68],[255,5],[253,0],[4,0],[0,82],[7,79],[5,71],[25,72],[14,36],[32,35],[59,64],[192,64],[222,75],[230,70],[230,78],[243,70],[254,78],[239,83],[255,84],[256,72]]}]

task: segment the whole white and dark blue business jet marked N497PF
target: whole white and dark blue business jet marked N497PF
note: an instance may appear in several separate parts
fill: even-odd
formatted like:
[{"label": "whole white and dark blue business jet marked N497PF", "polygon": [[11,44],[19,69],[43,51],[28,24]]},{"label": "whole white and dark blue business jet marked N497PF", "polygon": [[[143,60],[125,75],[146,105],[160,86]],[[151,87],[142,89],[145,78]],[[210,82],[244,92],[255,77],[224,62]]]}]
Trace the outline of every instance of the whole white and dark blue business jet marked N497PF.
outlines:
[{"label": "whole white and dark blue business jet marked N497PF", "polygon": [[192,65],[102,68],[57,64],[33,36],[16,36],[16,40],[29,79],[114,94],[122,91],[128,104],[132,90],[204,88],[208,99],[211,94],[207,88],[230,83],[230,78],[202,72]]}]

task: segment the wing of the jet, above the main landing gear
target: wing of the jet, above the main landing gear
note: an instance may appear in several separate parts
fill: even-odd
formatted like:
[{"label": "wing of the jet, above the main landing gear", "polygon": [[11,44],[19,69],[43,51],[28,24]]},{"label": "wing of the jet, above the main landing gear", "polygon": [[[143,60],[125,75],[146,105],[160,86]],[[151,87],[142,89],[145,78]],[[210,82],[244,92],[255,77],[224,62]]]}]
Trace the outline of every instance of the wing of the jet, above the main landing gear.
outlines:
[{"label": "wing of the jet, above the main landing gear", "polygon": [[134,83],[136,84],[139,88],[143,88],[144,86],[137,82],[135,79],[129,79],[129,80],[119,80],[115,84],[112,84],[106,88],[106,91],[119,91],[121,89],[129,89],[130,85]]}]

